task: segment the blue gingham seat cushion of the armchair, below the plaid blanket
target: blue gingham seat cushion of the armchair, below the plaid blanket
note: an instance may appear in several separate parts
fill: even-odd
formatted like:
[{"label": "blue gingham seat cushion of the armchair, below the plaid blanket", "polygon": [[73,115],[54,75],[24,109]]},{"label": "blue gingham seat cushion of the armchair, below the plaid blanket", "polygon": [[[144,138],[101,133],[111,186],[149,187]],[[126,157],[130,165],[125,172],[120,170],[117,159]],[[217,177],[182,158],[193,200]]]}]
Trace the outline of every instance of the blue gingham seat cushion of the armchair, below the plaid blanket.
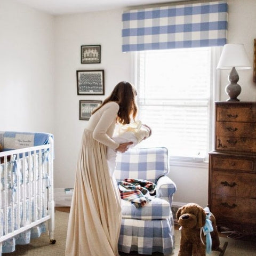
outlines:
[{"label": "blue gingham seat cushion of the armchair, below the plaid blanket", "polygon": [[122,201],[122,218],[138,220],[159,220],[170,217],[170,204],[164,199],[154,197],[145,206],[136,208],[131,202]]}]

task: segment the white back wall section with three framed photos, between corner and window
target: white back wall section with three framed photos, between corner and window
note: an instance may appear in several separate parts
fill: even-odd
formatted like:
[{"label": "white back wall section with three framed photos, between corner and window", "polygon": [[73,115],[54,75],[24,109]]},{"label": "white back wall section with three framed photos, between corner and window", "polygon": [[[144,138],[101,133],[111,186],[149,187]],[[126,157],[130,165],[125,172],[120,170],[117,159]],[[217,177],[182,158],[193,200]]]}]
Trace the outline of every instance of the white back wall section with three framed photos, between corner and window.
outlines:
[{"label": "white back wall section with three framed photos, between corner and window", "polygon": [[[87,121],[79,100],[103,100],[119,81],[131,81],[130,54],[121,51],[121,10],[56,18],[55,187],[73,187]],[[81,45],[101,45],[101,63],[81,64]],[[77,95],[76,70],[103,69],[105,95]],[[65,174],[65,175],[64,175]]]}]

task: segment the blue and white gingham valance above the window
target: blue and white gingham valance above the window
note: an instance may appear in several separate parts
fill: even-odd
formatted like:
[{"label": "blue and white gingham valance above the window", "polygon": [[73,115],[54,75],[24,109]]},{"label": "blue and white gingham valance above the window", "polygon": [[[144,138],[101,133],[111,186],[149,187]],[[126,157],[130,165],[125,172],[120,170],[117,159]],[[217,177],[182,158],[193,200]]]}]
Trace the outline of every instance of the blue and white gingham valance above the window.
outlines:
[{"label": "blue and white gingham valance above the window", "polygon": [[227,43],[227,12],[227,1],[124,12],[122,51],[224,45]]}]

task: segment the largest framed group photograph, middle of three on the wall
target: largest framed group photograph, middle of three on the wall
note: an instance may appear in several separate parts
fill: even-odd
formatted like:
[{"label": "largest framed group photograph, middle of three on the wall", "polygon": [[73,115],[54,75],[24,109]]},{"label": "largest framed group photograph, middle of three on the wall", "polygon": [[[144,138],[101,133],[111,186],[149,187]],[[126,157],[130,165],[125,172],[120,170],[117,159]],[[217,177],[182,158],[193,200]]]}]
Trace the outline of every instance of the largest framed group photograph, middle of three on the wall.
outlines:
[{"label": "largest framed group photograph, middle of three on the wall", "polygon": [[77,95],[104,95],[104,70],[76,70]]}]

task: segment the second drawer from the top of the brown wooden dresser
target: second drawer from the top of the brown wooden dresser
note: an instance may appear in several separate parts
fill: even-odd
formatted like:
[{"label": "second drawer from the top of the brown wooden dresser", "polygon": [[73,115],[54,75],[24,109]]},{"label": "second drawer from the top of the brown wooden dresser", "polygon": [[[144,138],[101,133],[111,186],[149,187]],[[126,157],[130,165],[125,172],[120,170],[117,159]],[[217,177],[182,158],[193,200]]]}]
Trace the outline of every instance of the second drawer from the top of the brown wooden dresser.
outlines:
[{"label": "second drawer from the top of the brown wooden dresser", "polygon": [[216,137],[256,138],[256,123],[217,122]]}]

